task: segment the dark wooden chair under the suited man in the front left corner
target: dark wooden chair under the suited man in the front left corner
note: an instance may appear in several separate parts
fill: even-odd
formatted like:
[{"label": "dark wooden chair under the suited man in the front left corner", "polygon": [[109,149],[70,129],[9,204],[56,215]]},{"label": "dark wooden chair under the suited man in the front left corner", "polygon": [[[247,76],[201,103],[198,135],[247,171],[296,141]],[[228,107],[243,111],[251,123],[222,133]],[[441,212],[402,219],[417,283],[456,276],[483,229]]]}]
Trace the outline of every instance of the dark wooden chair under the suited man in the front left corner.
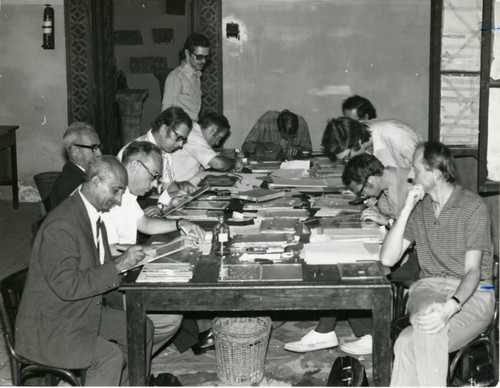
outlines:
[{"label": "dark wooden chair under the suited man in the front left corner", "polygon": [[[48,386],[55,386],[60,380],[64,380],[74,386],[83,385],[83,371],[70,371],[63,368],[42,365],[16,352],[15,321],[27,274],[28,269],[24,268],[0,281],[0,319],[9,354],[12,385],[24,385],[26,380],[33,377],[44,377],[45,385]],[[80,379],[75,373],[80,375]]]}]

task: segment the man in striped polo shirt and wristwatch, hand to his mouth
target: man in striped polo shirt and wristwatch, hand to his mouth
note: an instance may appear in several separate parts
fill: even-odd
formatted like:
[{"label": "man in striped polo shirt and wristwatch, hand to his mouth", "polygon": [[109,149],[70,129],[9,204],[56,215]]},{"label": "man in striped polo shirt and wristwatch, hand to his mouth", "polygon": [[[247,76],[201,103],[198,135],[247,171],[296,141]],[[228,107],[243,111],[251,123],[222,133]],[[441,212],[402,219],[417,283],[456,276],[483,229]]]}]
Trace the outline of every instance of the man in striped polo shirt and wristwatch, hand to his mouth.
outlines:
[{"label": "man in striped polo shirt and wristwatch, hand to his mouth", "polygon": [[409,290],[411,326],[394,345],[391,386],[446,386],[448,353],[477,337],[494,314],[489,212],[455,183],[444,144],[419,144],[410,177],[414,186],[380,254],[393,266],[415,243],[421,268]]}]

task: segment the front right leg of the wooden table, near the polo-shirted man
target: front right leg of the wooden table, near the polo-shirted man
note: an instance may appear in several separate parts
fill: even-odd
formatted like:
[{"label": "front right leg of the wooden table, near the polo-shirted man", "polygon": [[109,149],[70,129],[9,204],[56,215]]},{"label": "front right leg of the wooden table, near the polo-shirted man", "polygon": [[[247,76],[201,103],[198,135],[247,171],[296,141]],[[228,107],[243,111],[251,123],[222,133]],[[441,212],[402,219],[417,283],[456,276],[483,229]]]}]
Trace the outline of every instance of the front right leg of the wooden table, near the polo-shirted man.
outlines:
[{"label": "front right leg of the wooden table, near the polo-shirted man", "polygon": [[392,365],[391,290],[375,290],[373,300],[373,381],[376,386],[388,387]]}]

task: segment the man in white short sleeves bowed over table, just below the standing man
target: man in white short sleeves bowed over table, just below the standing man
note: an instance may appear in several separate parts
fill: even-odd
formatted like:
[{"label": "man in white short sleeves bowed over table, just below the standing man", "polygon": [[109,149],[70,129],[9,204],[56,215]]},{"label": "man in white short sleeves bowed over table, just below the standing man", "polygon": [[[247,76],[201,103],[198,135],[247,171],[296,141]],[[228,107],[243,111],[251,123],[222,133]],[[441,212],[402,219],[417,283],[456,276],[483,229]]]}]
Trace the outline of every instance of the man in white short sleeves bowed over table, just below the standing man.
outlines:
[{"label": "man in white short sleeves bowed over table, just below the standing man", "polygon": [[212,149],[227,137],[229,129],[227,118],[216,112],[208,112],[199,123],[194,122],[187,143],[172,154],[175,180],[191,181],[201,169],[240,170],[243,164],[238,158],[230,159]]}]

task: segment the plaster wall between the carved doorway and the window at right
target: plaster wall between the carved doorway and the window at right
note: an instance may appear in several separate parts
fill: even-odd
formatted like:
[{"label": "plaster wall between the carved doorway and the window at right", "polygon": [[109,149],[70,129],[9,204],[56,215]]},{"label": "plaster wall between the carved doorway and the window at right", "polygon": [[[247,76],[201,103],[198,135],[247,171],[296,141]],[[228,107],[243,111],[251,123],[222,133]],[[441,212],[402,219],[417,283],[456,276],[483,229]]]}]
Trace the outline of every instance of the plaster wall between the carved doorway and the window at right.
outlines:
[{"label": "plaster wall between the carved doorway and the window at right", "polygon": [[[428,138],[428,1],[222,0],[222,17],[226,147],[240,147],[265,111],[288,108],[319,150],[352,94]],[[227,23],[239,40],[226,38]]]}]

